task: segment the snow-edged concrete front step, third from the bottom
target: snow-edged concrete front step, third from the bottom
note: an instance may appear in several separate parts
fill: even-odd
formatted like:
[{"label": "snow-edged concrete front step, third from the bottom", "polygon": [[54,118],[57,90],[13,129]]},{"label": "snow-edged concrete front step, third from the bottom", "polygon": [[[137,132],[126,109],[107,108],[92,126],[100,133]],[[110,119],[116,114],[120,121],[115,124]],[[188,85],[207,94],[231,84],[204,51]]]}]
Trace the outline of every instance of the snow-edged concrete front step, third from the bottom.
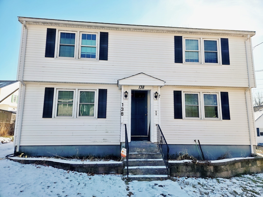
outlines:
[{"label": "snow-edged concrete front step, third from the bottom", "polygon": [[[126,159],[123,160],[124,166],[126,165]],[[163,159],[129,159],[129,166],[158,166],[164,165]]]}]

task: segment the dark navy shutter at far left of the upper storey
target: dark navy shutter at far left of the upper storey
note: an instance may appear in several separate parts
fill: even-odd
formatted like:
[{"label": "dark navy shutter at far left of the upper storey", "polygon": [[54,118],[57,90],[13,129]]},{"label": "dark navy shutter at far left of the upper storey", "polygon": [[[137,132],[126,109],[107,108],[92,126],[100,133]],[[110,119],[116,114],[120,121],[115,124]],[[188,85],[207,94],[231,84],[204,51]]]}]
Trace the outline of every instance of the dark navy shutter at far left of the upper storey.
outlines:
[{"label": "dark navy shutter at far left of the upper storey", "polygon": [[56,30],[57,29],[47,28],[45,58],[54,58],[55,41],[56,41]]}]

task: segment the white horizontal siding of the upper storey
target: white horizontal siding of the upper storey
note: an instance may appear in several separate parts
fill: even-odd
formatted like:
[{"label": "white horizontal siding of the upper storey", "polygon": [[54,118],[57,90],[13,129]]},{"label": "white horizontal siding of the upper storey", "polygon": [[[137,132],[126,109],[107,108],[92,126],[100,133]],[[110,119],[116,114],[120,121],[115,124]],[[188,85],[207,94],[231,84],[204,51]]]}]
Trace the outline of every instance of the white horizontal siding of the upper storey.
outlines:
[{"label": "white horizontal siding of the upper storey", "polygon": [[[196,66],[196,64],[174,63],[175,34],[107,30],[109,32],[108,61],[93,62],[83,59],[45,58],[47,26],[27,26],[27,50],[23,77],[25,81],[117,84],[119,79],[144,72],[166,81],[165,85],[248,87],[245,38],[242,37],[225,37],[229,39],[230,65]],[[61,29],[55,26],[52,28]],[[64,29],[79,30],[79,28],[66,27]],[[90,32],[90,29],[82,28],[81,30]],[[200,35],[195,37],[200,38]],[[206,35],[205,38],[220,40],[224,36]],[[247,45],[251,87],[254,87],[249,40]],[[19,73],[21,74],[21,69]]]}]

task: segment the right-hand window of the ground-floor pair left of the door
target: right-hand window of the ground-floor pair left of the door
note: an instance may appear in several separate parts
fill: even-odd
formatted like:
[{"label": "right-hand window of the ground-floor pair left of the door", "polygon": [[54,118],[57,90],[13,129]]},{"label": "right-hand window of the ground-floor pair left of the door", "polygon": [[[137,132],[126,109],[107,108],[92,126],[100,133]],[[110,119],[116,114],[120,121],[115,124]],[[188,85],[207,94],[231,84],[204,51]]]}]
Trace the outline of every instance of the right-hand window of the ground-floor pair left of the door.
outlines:
[{"label": "right-hand window of the ground-floor pair left of the door", "polygon": [[95,91],[79,91],[79,117],[94,116]]}]

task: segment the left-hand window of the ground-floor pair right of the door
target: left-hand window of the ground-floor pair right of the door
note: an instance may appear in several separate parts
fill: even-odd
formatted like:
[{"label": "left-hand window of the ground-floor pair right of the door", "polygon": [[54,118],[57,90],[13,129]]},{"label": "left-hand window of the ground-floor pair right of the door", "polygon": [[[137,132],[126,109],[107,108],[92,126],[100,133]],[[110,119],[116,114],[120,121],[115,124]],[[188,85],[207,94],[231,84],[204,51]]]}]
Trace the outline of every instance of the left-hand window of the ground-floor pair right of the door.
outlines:
[{"label": "left-hand window of the ground-floor pair right of the door", "polygon": [[199,94],[185,93],[185,117],[199,118]]}]

